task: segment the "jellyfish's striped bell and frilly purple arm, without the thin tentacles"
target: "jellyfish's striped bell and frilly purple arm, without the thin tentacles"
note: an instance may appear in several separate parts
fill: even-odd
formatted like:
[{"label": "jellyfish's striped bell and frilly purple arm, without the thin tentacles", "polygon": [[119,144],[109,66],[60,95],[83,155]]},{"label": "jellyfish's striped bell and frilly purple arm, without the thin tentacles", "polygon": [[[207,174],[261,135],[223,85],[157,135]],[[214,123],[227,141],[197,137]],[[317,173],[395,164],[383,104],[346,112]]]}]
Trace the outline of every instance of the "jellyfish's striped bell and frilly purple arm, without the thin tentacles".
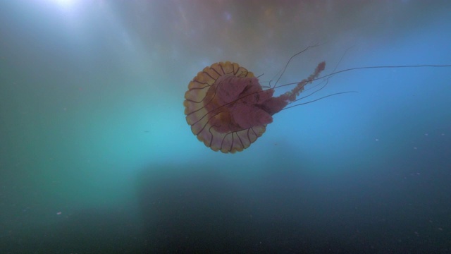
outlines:
[{"label": "jellyfish's striped bell and frilly purple arm, without the thin tentacles", "polygon": [[325,62],[309,78],[273,97],[258,78],[230,61],[213,63],[192,79],[185,92],[185,115],[191,131],[211,150],[240,152],[257,140],[273,121],[273,114],[294,102],[304,86],[318,78]]}]

